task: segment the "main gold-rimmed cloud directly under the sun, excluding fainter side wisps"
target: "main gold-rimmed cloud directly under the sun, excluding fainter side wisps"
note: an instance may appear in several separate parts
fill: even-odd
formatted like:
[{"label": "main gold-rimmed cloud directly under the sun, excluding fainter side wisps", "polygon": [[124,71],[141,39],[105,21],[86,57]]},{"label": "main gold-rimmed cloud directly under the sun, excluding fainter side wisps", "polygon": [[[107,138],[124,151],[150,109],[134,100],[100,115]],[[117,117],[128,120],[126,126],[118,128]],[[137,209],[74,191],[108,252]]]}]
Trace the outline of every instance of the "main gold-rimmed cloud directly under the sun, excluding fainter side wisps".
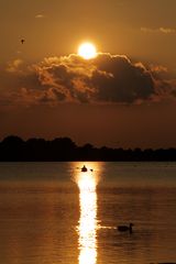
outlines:
[{"label": "main gold-rimmed cloud directly under the sun, excluding fainter side wisps", "polygon": [[155,94],[151,73],[125,56],[99,54],[85,61],[70,55],[38,67],[42,84],[55,87],[64,100],[132,103]]}]

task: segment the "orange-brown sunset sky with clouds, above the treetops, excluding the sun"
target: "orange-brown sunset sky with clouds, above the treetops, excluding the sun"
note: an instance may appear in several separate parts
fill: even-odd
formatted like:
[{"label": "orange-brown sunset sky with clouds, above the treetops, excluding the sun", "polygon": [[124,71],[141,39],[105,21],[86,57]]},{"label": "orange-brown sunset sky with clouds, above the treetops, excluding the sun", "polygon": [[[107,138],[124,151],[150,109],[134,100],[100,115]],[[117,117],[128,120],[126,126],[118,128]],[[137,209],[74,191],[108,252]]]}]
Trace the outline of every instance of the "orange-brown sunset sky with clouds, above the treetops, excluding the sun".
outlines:
[{"label": "orange-brown sunset sky with clouds, above the treetops, excluding the sun", "polygon": [[[175,12],[175,0],[0,0],[0,140],[176,147]],[[95,58],[77,54],[84,42]]]}]

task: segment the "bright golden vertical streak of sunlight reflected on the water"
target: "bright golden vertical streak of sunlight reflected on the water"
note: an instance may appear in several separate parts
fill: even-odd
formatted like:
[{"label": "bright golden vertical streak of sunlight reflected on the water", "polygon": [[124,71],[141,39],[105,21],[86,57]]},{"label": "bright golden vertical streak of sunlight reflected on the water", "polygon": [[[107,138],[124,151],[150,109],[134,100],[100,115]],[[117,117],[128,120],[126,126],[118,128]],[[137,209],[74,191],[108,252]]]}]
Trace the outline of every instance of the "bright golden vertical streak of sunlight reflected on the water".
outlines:
[{"label": "bright golden vertical streak of sunlight reflected on the water", "polygon": [[[80,164],[81,165],[81,164]],[[76,183],[79,187],[80,218],[78,224],[79,264],[97,263],[97,164],[86,164],[87,172],[78,167]],[[81,166],[80,166],[81,168]],[[91,170],[92,168],[92,170]]]}]

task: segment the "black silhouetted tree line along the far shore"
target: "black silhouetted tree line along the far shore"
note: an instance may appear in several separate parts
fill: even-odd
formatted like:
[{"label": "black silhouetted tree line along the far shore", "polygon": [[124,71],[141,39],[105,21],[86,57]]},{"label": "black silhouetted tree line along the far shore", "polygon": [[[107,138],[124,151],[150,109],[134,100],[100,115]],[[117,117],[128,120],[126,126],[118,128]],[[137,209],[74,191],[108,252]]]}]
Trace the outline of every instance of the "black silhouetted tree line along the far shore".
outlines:
[{"label": "black silhouetted tree line along the far shore", "polygon": [[89,143],[78,146],[69,138],[29,139],[9,135],[0,142],[0,162],[58,162],[58,161],[176,161],[176,148],[123,150],[96,147]]}]

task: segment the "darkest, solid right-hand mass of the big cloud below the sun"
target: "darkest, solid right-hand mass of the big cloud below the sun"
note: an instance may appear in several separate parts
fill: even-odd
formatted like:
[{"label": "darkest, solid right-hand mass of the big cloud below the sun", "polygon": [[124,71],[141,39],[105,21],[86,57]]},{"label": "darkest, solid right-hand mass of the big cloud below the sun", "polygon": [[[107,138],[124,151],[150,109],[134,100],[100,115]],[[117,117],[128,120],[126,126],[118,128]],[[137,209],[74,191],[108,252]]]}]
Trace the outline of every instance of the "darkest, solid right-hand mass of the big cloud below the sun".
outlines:
[{"label": "darkest, solid right-hand mass of the big cloud below the sun", "polygon": [[92,75],[98,100],[131,103],[155,94],[152,76],[142,64],[133,65],[125,56],[106,55],[98,61],[102,72]]}]

